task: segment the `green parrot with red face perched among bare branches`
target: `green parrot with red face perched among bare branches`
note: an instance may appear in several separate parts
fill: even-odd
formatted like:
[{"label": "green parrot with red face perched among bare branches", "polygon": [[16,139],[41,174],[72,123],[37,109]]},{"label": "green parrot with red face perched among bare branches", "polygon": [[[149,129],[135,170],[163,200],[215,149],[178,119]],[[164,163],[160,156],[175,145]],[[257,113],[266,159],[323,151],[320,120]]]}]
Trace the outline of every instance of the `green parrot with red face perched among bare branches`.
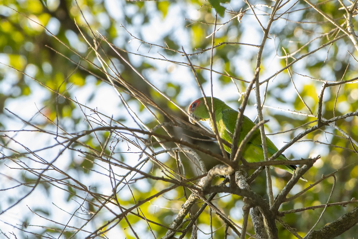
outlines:
[{"label": "green parrot with red face perched among bare branches", "polygon": [[[211,109],[211,97],[206,97],[207,104]],[[232,109],[226,105],[222,100],[213,98],[214,111],[215,111],[215,124],[218,129],[219,136],[226,140],[228,143],[232,143],[232,135],[234,134],[235,124],[237,120],[238,111]],[[204,97],[201,97],[190,104],[188,108],[188,114],[196,120],[209,121],[209,125],[214,130],[214,123],[209,116],[209,111],[205,106]],[[189,117],[189,121],[195,124],[195,121]],[[243,116],[240,137],[238,140],[238,146],[241,141],[245,138],[245,135],[255,126],[247,116]],[[272,141],[266,137],[267,152],[269,157],[278,151]],[[231,153],[231,148],[223,144],[226,152]],[[261,145],[261,134],[260,129],[256,129],[250,140],[247,142],[245,149],[242,153],[242,157],[247,162],[260,162],[264,160],[263,149]],[[283,154],[277,157],[278,160],[289,160]],[[297,168],[295,165],[274,165],[274,167],[281,168],[287,172],[293,173]],[[304,177],[301,180],[307,181]]]}]

